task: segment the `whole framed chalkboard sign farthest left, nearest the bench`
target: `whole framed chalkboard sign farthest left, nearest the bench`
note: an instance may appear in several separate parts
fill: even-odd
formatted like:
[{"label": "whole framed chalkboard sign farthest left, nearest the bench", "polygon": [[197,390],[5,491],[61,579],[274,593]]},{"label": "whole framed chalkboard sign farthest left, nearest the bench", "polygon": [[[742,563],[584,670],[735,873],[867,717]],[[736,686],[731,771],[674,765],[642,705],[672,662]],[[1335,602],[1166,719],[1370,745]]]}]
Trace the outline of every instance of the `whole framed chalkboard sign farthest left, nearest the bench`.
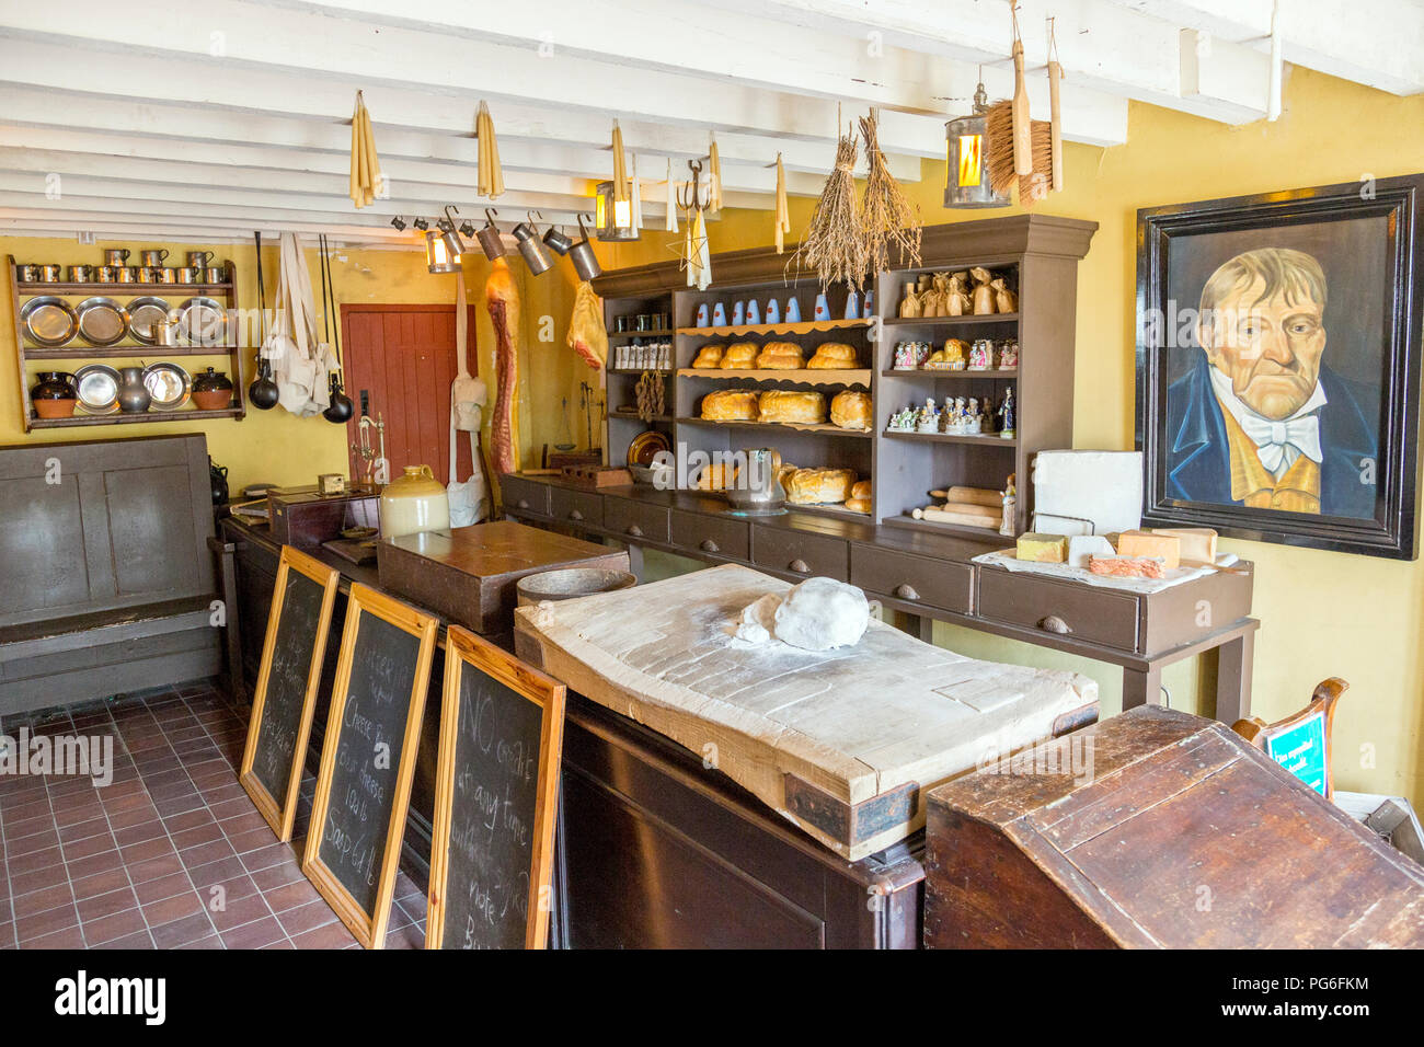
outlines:
[{"label": "whole framed chalkboard sign farthest left, nearest the bench", "polygon": [[283,843],[292,839],[339,580],[330,567],[282,547],[238,781]]}]

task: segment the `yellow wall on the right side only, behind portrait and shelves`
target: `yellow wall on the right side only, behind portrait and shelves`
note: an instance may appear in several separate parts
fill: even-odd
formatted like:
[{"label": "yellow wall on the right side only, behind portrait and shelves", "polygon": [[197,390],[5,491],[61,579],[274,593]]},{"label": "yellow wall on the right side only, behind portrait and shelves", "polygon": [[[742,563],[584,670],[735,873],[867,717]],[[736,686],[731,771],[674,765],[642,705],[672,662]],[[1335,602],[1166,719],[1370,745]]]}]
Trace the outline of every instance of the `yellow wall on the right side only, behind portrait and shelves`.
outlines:
[{"label": "yellow wall on the right side only, behind portrait and shelves", "polygon": [[[1284,114],[1276,124],[1233,128],[1134,104],[1126,145],[1069,144],[1065,189],[1038,209],[1099,225],[1079,268],[1075,444],[1132,447],[1139,207],[1424,171],[1421,128],[1424,97],[1394,98],[1292,68]],[[906,185],[926,224],[1020,211],[1017,205],[947,211],[943,187],[943,162],[926,162],[923,179]],[[806,228],[812,205],[792,199],[792,238]],[[708,229],[713,251],[772,242],[769,212],[728,211]],[[668,239],[645,234],[638,245],[621,245],[614,259],[621,265],[665,261]],[[1032,348],[1025,350],[1031,365]],[[1320,679],[1343,677],[1351,688],[1336,718],[1337,786],[1424,801],[1418,788],[1424,778],[1424,567],[1250,541],[1223,547],[1256,561],[1255,614],[1262,628],[1255,712],[1277,719],[1304,705]],[[1104,714],[1121,709],[1121,677],[1101,662],[943,624],[936,642],[973,657],[1085,672],[1101,684]],[[1205,695],[1215,671],[1208,660],[1171,667],[1163,682],[1175,708],[1210,712]]]}]

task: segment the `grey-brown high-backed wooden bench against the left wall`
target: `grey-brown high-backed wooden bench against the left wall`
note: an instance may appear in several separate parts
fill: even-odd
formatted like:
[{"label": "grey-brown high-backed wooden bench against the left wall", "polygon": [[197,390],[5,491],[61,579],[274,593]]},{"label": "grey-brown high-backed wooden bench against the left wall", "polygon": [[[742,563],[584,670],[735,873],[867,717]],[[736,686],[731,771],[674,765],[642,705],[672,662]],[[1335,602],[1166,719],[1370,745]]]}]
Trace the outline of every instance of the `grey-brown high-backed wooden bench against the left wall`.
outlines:
[{"label": "grey-brown high-backed wooden bench against the left wall", "polygon": [[0,446],[0,714],[221,671],[202,434]]}]

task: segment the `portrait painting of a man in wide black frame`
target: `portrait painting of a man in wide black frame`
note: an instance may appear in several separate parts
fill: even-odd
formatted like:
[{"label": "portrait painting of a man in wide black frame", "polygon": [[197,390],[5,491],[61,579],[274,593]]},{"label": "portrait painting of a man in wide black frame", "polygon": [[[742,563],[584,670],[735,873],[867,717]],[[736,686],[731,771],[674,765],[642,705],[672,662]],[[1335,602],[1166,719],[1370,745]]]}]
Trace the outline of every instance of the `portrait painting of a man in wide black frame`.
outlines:
[{"label": "portrait painting of a man in wide black frame", "polygon": [[1138,211],[1143,524],[1417,556],[1424,175]]}]

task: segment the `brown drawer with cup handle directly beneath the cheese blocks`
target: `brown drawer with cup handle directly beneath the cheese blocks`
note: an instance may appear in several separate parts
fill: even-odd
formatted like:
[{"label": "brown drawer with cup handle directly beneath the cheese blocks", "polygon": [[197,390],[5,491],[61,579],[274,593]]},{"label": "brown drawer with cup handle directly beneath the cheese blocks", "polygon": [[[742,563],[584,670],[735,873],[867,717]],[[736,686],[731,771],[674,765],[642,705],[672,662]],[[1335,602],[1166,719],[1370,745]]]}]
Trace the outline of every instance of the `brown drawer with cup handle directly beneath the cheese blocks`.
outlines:
[{"label": "brown drawer with cup handle directly beneath the cheese blocks", "polygon": [[978,580],[977,607],[983,618],[1057,632],[1081,642],[1138,650],[1135,595],[1000,567],[981,567]]}]

